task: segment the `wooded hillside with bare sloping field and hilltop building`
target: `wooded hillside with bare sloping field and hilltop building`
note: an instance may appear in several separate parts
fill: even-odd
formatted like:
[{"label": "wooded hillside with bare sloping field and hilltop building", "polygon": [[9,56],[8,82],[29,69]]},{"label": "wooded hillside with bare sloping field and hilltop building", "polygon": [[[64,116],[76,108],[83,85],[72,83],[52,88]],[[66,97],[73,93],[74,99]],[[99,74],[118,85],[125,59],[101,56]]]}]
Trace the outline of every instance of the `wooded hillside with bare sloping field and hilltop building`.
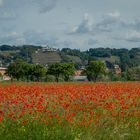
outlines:
[{"label": "wooded hillside with bare sloping field and hilltop building", "polygon": [[127,68],[140,66],[140,48],[132,48],[130,50],[125,48],[90,48],[87,51],[70,48],[59,50],[49,47],[45,50],[44,48],[34,45],[23,45],[20,47],[1,45],[1,66],[7,66],[16,59],[43,65],[49,65],[54,62],[74,62],[76,69],[80,69],[92,60],[103,60],[110,69],[114,64],[118,64],[122,71],[125,71]]}]

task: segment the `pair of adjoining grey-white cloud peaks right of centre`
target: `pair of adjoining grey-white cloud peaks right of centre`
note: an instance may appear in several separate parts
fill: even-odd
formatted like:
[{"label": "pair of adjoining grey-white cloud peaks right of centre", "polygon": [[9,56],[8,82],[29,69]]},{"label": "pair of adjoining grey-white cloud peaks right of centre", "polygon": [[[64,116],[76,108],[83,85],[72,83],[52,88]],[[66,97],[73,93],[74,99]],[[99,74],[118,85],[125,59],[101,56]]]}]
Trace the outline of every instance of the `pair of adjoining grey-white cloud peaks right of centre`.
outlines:
[{"label": "pair of adjoining grey-white cloud peaks right of centre", "polygon": [[89,14],[84,15],[82,22],[71,29],[70,34],[74,33],[93,33],[93,32],[111,32],[121,25],[121,15],[118,11],[108,13],[100,21],[93,24],[93,17]]}]

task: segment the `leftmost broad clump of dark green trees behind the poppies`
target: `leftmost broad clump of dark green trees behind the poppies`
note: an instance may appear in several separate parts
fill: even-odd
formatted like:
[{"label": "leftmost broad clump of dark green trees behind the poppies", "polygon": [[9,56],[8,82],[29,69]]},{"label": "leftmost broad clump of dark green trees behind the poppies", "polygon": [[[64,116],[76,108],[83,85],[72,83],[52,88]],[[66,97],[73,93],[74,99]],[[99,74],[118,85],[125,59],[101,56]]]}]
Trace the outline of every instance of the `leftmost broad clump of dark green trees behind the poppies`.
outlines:
[{"label": "leftmost broad clump of dark green trees behind the poppies", "polygon": [[16,60],[8,66],[6,74],[17,81],[41,81],[45,77],[46,69],[42,65]]}]

